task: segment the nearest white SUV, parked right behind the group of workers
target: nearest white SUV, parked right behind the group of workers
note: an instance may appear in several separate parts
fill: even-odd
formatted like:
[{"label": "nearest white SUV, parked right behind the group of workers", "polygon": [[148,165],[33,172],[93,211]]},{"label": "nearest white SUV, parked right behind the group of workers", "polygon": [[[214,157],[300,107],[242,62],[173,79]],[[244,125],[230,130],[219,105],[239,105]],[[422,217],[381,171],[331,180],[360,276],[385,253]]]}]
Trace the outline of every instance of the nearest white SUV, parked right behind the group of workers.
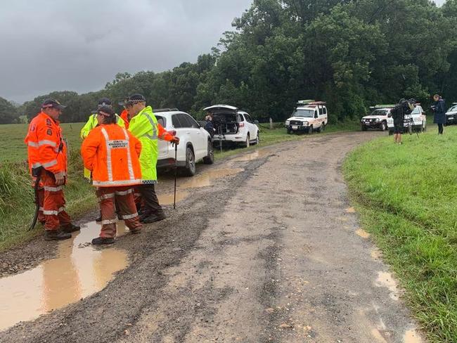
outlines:
[{"label": "nearest white SUV, parked right behind the group of workers", "polygon": [[[211,136],[193,117],[176,108],[154,110],[154,115],[164,129],[179,138],[176,164],[186,176],[195,174],[195,163],[200,160],[205,164],[214,163]],[[174,163],[174,146],[159,140],[157,168],[174,167]]]}]

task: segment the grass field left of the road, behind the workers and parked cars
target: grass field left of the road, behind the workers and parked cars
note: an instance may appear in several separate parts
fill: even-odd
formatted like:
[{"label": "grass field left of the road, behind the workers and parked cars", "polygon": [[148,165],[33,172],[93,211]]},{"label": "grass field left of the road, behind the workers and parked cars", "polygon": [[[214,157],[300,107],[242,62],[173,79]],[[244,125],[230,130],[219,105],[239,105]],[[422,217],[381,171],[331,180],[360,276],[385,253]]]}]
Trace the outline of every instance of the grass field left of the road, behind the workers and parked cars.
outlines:
[{"label": "grass field left of the road, behind the workers and parked cars", "polygon": [[[79,131],[82,125],[83,123],[62,124],[63,136],[67,138],[70,147],[69,181],[65,188],[65,199],[67,211],[72,216],[79,216],[97,206],[94,190],[82,176],[82,160],[79,157],[81,145]],[[329,126],[326,132],[355,129],[358,129],[358,125],[354,123],[339,124]],[[0,145],[0,250],[5,250],[41,233],[39,229],[32,233],[27,231],[34,212],[34,195],[26,167],[27,148],[23,142],[25,134],[27,134],[25,124],[0,125],[0,136],[4,142]],[[257,147],[307,137],[308,135],[286,134],[282,124],[275,124],[272,130],[261,125],[259,145],[248,149],[224,150],[222,153],[216,150],[215,158],[220,160]]]}]

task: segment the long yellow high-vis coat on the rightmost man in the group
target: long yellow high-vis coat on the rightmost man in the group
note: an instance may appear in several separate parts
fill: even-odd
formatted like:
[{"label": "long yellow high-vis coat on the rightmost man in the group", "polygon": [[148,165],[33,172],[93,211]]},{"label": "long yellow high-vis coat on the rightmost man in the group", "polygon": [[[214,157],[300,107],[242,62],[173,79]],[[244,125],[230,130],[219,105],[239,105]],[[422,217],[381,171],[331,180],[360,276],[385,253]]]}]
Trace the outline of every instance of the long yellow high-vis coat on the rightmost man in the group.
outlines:
[{"label": "long yellow high-vis coat on the rightmost man in the group", "polygon": [[129,131],[141,141],[141,179],[143,183],[157,183],[157,119],[153,109],[143,108],[138,115],[130,119]]}]

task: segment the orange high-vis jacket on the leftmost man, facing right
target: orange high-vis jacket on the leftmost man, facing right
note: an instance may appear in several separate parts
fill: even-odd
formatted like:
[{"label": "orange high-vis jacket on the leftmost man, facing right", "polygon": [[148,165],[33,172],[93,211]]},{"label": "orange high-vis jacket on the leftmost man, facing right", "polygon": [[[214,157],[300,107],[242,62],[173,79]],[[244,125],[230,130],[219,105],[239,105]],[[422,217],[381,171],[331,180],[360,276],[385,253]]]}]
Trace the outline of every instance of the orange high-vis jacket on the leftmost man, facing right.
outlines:
[{"label": "orange high-vis jacket on the leftmost man, facing right", "polygon": [[62,128],[44,112],[32,119],[25,136],[30,171],[43,167],[53,174],[67,175],[67,145]]}]

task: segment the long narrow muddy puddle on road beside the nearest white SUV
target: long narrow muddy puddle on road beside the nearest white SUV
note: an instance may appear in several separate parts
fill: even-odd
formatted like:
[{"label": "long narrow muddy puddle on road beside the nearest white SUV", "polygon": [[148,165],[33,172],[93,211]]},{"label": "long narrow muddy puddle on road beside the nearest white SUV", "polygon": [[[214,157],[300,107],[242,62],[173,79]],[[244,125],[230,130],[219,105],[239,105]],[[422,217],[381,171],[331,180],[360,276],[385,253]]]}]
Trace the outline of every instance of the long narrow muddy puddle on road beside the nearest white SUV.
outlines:
[{"label": "long narrow muddy puddle on road beside the nearest white SUV", "polygon": [[[202,188],[208,187],[214,184],[214,179],[220,179],[224,176],[231,176],[240,173],[244,169],[242,168],[226,168],[226,169],[214,169],[205,171],[202,174],[193,176],[192,178],[184,181],[184,183],[179,183],[176,189],[176,202],[185,200],[188,195],[191,194],[188,190],[191,188]],[[174,194],[158,194],[160,205],[173,205]]]}]

